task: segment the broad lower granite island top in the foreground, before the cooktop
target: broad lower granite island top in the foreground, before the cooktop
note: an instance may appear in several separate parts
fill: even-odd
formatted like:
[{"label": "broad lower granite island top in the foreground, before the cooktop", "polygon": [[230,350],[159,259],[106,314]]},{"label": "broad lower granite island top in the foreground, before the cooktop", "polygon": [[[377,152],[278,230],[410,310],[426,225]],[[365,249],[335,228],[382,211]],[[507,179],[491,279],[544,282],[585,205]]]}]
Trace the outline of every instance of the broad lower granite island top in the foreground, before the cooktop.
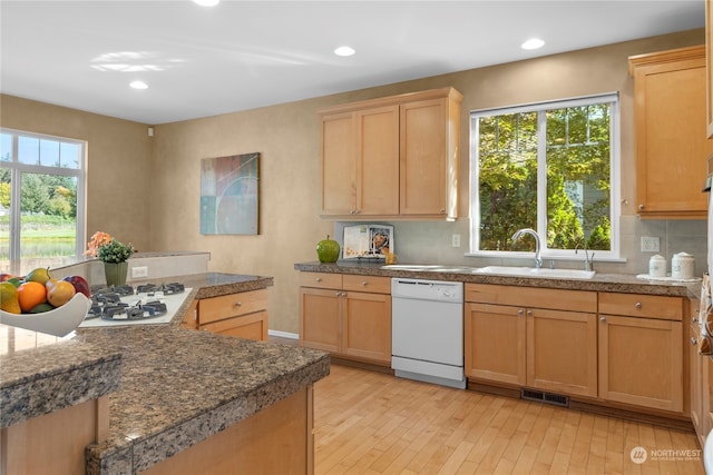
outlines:
[{"label": "broad lower granite island top in the foreground, before the cooktop", "polygon": [[109,397],[109,439],[87,449],[87,474],[134,474],[329,374],[329,355],[173,325],[87,331],[124,356]]}]

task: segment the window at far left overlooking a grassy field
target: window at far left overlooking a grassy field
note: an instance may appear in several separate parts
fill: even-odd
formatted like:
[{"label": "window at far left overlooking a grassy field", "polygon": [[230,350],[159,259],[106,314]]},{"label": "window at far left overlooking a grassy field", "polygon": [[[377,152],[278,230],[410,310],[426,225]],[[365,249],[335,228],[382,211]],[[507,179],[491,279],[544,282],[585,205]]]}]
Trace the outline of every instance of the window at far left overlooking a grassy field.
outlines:
[{"label": "window at far left overlooking a grassy field", "polygon": [[57,266],[81,255],[85,150],[79,140],[0,130],[3,271]]}]

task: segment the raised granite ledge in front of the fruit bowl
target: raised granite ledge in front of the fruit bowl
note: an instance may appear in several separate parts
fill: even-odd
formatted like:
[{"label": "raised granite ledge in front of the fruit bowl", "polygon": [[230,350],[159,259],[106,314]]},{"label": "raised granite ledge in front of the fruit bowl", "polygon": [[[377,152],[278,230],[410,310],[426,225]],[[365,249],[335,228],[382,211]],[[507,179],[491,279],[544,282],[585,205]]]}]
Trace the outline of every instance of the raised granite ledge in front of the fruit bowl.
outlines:
[{"label": "raised granite ledge in front of the fruit bowl", "polygon": [[[0,427],[117,389],[121,356],[85,338],[61,339],[0,325]],[[28,342],[45,342],[28,345]]]}]

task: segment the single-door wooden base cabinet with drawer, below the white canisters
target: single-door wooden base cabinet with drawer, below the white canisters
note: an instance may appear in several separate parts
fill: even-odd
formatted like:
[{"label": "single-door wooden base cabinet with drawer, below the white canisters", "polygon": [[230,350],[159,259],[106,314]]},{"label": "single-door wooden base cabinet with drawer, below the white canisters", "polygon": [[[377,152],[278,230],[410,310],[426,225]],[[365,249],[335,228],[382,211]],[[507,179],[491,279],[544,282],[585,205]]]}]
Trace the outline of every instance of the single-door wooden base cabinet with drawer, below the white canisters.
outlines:
[{"label": "single-door wooden base cabinet with drawer, below the white canisters", "polygon": [[683,412],[683,299],[599,294],[599,397]]}]

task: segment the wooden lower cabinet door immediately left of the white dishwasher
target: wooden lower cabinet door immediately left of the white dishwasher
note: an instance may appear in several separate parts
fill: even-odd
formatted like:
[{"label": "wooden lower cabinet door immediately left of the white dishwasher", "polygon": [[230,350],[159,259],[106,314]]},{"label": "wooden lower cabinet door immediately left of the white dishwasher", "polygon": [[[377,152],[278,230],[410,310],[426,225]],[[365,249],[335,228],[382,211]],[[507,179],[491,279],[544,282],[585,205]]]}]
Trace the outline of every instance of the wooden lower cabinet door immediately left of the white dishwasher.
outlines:
[{"label": "wooden lower cabinet door immediately left of the white dishwasher", "polygon": [[342,323],[343,353],[391,365],[391,296],[346,293]]}]

